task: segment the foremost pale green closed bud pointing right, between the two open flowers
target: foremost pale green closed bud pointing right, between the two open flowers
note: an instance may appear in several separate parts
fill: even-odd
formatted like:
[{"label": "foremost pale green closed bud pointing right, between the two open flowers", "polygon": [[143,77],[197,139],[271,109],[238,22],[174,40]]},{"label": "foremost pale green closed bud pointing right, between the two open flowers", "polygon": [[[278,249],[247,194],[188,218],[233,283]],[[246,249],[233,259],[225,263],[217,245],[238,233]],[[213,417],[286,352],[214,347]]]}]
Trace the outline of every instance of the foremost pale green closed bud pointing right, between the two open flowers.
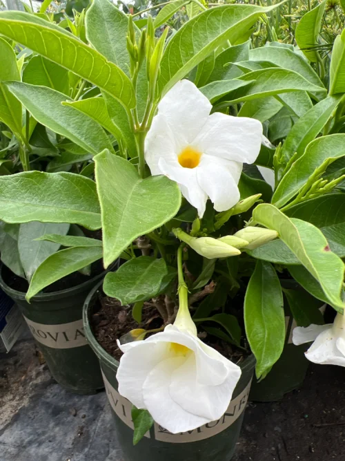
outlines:
[{"label": "foremost pale green closed bud pointing right, between the two open flowers", "polygon": [[224,242],[217,240],[212,237],[192,237],[182,229],[172,229],[175,236],[181,241],[188,243],[195,252],[204,256],[204,258],[215,259],[215,258],[228,258],[228,256],[236,256],[241,254],[237,248],[227,245]]}]

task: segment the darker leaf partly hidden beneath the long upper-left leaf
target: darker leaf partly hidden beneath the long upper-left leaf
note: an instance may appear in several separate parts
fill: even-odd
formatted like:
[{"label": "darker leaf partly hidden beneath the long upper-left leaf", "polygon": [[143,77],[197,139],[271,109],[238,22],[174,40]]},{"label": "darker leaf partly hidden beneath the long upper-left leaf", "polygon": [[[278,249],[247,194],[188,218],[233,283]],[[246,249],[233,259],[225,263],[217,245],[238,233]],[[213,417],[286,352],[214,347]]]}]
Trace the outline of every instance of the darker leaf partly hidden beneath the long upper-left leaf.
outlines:
[{"label": "darker leaf partly hidden beneath the long upper-left leaf", "polygon": [[68,70],[42,56],[34,56],[30,59],[23,70],[23,82],[48,86],[65,95],[70,94]]}]

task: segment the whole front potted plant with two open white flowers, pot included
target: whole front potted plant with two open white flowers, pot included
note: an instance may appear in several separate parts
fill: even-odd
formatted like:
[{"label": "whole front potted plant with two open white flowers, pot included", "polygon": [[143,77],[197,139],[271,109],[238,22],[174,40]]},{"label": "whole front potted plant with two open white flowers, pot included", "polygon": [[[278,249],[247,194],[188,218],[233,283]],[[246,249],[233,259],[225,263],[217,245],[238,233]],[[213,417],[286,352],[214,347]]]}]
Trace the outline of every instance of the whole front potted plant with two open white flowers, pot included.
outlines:
[{"label": "whole front potted plant with two open white flowers, pot included", "polygon": [[[45,87],[7,82],[6,88],[50,129],[57,126],[55,111],[59,123],[74,111],[75,117],[88,115],[107,131],[111,126],[117,139],[115,151],[105,147],[93,158],[95,181],[70,172],[29,171],[0,178],[0,218],[6,223],[37,220],[101,228],[99,250],[105,267],[121,255],[128,259],[104,286],[120,300],[108,308],[108,315],[116,314],[111,335],[119,337],[124,352],[120,362],[115,358],[119,351],[115,357],[108,354],[90,328],[90,318],[97,314],[90,302],[97,299],[96,289],[86,303],[84,322],[116,409],[124,455],[131,461],[143,453],[170,460],[182,452],[185,459],[186,453],[190,459],[195,453],[201,460],[230,457],[255,365],[248,354],[251,350],[257,359],[257,377],[264,377],[284,348],[277,270],[289,263],[290,274],[308,292],[339,312],[344,307],[341,237],[328,234],[328,241],[322,219],[309,222],[314,218],[308,211],[315,209],[315,200],[343,200],[343,194],[334,194],[342,178],[325,182],[320,177],[335,158],[342,158],[344,135],[309,142],[328,118],[328,129],[335,122],[333,111],[342,100],[337,93],[344,93],[341,73],[335,73],[340,89],[331,97],[321,82],[311,84],[285,67],[241,70],[237,77],[223,73],[232,67],[224,64],[234,59],[224,62],[224,47],[227,53],[246,53],[245,46],[235,48],[228,41],[242,44],[257,19],[273,8],[210,8],[171,34],[166,44],[168,28],[157,39],[150,17],[146,29],[138,30],[132,18],[111,3],[95,0],[86,14],[90,46],[38,17],[0,13],[2,35],[79,75],[90,82],[82,83],[83,88],[91,84],[87,91],[99,89],[101,95],[54,104],[50,96],[55,98],[56,92],[43,92]],[[111,33],[103,36],[99,31],[108,22]],[[250,62],[250,57],[241,59]],[[208,84],[214,71],[218,77]],[[199,89],[191,81],[197,75]],[[234,116],[246,102],[268,96],[278,97],[279,104],[284,100],[290,110],[303,106],[305,116],[316,117],[313,137],[311,123],[304,119],[294,147],[273,149],[262,142],[259,120]],[[335,104],[327,120],[322,118],[324,123],[319,121],[318,104]],[[295,114],[295,119],[302,116]],[[76,143],[81,135],[94,140],[83,125],[66,129],[71,131],[66,137],[75,135]],[[249,166],[242,173],[244,163]],[[255,164],[274,170],[273,196]],[[335,214],[328,217],[333,225]],[[61,241],[57,235],[44,238]],[[77,251],[76,240],[65,237],[64,242]],[[76,268],[75,261],[64,258],[54,271],[41,271],[27,299],[48,279],[51,283]],[[109,304],[102,296],[100,302]],[[134,304],[120,305],[126,303]],[[189,310],[190,305],[195,309]],[[207,313],[201,316],[206,305]],[[141,324],[127,323],[130,312]],[[302,309],[297,312],[304,315]],[[100,328],[111,323],[99,320]],[[142,438],[141,449],[132,447],[131,404],[123,397],[136,405],[132,420],[135,441]],[[207,435],[206,429],[215,431]]]}]

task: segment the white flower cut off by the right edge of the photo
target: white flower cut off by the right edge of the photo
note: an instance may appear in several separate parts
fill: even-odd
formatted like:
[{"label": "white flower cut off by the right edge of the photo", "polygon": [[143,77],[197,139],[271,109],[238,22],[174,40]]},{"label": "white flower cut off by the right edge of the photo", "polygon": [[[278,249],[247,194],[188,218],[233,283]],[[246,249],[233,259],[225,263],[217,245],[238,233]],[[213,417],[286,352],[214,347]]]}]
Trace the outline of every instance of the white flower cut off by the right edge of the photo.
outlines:
[{"label": "white flower cut off by the right edge of the photo", "polygon": [[345,317],[337,314],[334,323],[311,325],[293,330],[293,344],[314,341],[306,358],[315,364],[345,366]]}]

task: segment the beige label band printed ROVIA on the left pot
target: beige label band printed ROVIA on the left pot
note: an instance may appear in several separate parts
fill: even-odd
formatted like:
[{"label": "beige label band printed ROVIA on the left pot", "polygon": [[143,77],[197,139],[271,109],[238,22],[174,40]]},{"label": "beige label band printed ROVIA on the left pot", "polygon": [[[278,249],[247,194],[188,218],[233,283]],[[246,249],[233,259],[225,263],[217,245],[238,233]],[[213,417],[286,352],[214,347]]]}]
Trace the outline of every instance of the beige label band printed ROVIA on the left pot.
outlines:
[{"label": "beige label band printed ROVIA on the left pot", "polygon": [[44,325],[26,319],[34,339],[44,346],[55,349],[70,349],[86,346],[83,319],[61,325]]}]

